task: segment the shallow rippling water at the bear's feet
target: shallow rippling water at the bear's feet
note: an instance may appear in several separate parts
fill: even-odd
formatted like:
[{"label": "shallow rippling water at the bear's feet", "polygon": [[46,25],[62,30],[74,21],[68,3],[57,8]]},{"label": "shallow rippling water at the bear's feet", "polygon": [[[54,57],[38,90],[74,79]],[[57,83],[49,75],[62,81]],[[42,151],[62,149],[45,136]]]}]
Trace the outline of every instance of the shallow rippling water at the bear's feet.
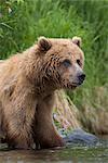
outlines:
[{"label": "shallow rippling water at the bear's feet", "polygon": [[69,145],[62,149],[24,151],[1,148],[0,163],[108,163],[108,141],[95,147]]}]

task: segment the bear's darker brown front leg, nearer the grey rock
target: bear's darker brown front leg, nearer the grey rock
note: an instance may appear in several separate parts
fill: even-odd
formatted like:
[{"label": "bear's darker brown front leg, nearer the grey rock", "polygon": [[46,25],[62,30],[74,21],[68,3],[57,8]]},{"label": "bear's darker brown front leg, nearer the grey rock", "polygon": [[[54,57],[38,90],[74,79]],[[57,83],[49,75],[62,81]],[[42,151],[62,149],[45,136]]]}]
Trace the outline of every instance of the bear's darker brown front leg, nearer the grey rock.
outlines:
[{"label": "bear's darker brown front leg, nearer the grey rock", "polygon": [[53,100],[54,97],[49,96],[44,100],[40,101],[36,108],[32,128],[36,148],[54,148],[63,147],[65,145],[53,123]]}]

